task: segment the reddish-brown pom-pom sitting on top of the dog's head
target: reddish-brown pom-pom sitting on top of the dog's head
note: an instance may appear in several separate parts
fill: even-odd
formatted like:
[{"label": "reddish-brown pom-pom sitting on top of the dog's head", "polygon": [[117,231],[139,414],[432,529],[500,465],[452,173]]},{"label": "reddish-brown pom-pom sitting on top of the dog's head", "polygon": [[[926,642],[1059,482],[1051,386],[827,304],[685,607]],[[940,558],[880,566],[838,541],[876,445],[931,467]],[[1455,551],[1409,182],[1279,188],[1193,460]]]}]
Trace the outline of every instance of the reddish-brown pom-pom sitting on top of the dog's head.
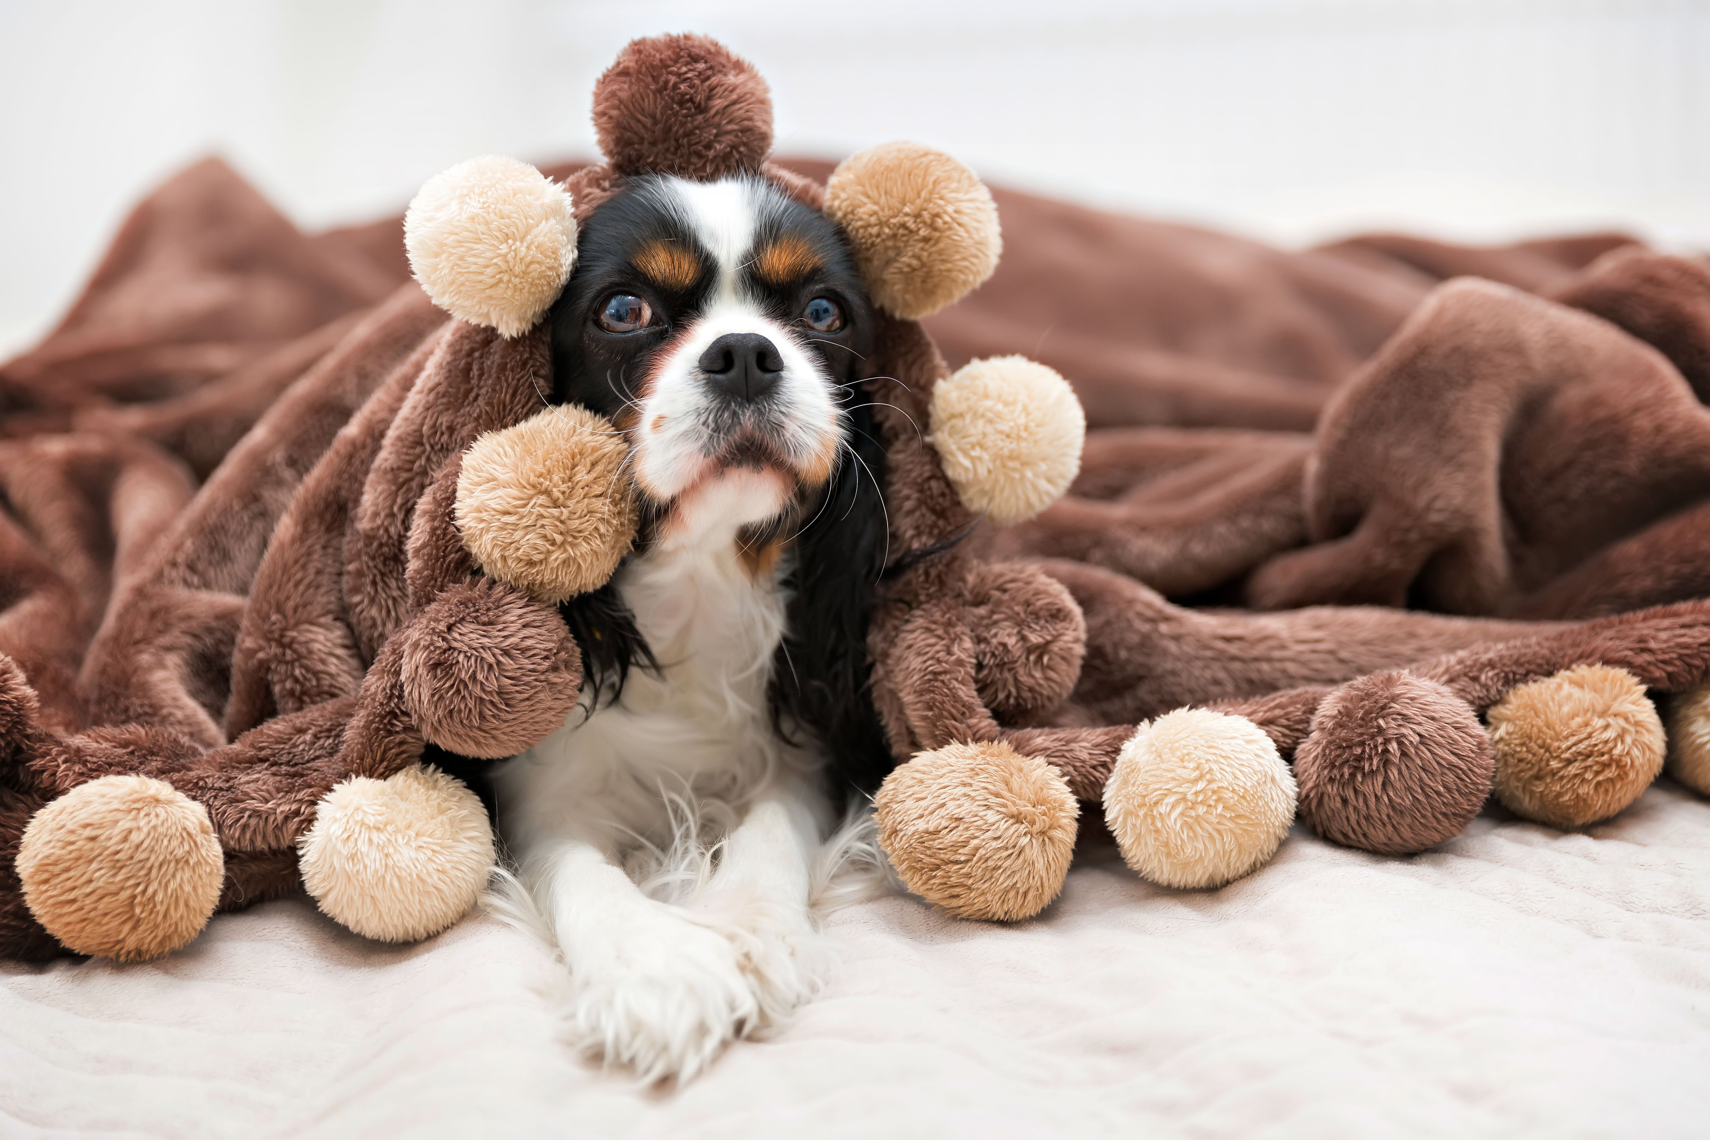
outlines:
[{"label": "reddish-brown pom-pom sitting on top of the dog's head", "polygon": [[766,161],[771,94],[715,39],[634,39],[593,85],[593,130],[617,174],[716,181]]}]

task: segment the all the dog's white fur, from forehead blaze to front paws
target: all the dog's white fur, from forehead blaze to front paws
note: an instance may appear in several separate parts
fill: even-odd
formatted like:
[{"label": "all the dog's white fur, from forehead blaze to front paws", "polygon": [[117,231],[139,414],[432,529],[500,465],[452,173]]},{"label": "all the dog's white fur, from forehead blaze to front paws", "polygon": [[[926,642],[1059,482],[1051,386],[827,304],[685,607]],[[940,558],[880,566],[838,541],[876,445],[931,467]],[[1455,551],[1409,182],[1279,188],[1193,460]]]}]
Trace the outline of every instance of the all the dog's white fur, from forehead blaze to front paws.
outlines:
[{"label": "all the dog's white fur, from forehead blaze to front paws", "polygon": [[621,702],[576,709],[499,769],[516,875],[501,877],[492,904],[559,947],[568,1032],[648,1082],[694,1075],[728,1041],[809,998],[828,962],[812,921],[814,896],[834,894],[828,868],[850,856],[877,865],[865,824],[823,843],[833,820],[819,757],[773,730],[781,567],[754,574],[737,533],[776,516],[793,480],[716,468],[725,441],[699,415],[711,397],[696,361],[727,332],[778,345],[776,422],[754,427],[792,463],[836,446],[833,385],[737,287],[752,186],[667,190],[716,256],[722,284],[643,398],[633,444],[640,482],[669,516],[616,581],[663,668],[633,670]]}]

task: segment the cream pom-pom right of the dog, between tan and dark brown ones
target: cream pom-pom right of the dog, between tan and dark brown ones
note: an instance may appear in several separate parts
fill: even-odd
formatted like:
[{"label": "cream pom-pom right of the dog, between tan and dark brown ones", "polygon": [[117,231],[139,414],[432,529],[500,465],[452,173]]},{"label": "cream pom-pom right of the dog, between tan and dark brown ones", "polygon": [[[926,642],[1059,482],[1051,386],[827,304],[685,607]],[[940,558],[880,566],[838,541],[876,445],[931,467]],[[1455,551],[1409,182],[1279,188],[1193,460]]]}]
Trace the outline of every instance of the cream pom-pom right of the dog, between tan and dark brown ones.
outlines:
[{"label": "cream pom-pom right of the dog, between tan and dark brown ones", "polygon": [[1276,855],[1294,822],[1294,774],[1245,716],[1176,709],[1122,745],[1105,822],[1142,879],[1221,887]]}]

